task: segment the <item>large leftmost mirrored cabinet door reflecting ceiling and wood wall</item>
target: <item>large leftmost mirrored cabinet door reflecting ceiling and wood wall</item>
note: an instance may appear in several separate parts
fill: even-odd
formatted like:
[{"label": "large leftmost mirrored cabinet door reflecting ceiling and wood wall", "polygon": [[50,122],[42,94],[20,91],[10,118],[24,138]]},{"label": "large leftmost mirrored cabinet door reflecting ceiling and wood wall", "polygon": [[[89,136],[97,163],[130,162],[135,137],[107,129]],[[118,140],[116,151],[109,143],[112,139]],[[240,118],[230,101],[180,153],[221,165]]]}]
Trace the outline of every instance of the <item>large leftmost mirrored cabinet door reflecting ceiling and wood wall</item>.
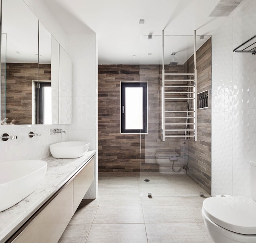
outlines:
[{"label": "large leftmost mirrored cabinet door reflecting ceiling and wood wall", "polygon": [[5,104],[1,103],[1,124],[33,124],[32,80],[37,81],[38,77],[38,19],[23,1],[2,0],[1,40],[6,40],[6,60],[3,51],[1,57],[1,97],[5,97]]}]

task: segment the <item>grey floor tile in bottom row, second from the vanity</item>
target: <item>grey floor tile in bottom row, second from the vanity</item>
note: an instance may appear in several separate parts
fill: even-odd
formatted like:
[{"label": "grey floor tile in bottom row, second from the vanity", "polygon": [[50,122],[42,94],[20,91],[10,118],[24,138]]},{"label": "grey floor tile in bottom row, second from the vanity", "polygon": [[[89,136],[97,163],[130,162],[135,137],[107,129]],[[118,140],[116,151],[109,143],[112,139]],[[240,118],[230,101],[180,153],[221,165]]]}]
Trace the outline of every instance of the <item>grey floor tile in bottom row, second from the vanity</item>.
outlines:
[{"label": "grey floor tile in bottom row, second from the vanity", "polygon": [[144,223],[94,223],[86,243],[148,243]]}]

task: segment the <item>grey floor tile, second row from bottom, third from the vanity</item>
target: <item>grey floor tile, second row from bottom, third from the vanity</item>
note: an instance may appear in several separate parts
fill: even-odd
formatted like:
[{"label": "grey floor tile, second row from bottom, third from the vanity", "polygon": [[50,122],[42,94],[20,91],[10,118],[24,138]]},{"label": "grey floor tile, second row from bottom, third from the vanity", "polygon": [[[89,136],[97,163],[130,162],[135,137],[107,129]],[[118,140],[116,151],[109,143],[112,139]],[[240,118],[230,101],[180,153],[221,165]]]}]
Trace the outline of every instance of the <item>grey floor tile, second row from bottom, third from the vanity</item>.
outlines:
[{"label": "grey floor tile, second row from bottom, third from the vanity", "polygon": [[142,206],[145,223],[196,223],[185,206]]}]

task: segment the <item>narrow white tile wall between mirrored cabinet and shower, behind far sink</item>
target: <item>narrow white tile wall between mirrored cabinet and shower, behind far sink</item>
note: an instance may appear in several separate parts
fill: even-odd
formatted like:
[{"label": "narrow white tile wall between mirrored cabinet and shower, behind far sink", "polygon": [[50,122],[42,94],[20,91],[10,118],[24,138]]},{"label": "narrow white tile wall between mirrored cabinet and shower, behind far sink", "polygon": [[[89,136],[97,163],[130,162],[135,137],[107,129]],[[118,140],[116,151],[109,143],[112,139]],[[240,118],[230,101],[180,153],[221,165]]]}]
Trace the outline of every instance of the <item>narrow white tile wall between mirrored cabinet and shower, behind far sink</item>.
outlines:
[{"label": "narrow white tile wall between mirrored cabinet and shower, behind far sink", "polygon": [[[96,34],[70,34],[72,57],[72,124],[70,140],[90,142],[98,151],[98,59]],[[95,198],[98,183],[98,154],[95,160],[96,180],[85,198]]]}]

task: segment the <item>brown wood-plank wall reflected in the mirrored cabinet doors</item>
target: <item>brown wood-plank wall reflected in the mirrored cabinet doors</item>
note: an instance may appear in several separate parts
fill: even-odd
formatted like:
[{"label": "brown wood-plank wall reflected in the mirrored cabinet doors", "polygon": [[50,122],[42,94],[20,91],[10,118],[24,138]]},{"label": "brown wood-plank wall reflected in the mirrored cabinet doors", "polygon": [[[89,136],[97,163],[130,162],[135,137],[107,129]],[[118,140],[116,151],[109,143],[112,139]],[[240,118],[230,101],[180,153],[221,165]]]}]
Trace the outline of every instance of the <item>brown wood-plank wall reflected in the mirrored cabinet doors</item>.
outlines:
[{"label": "brown wood-plank wall reflected in the mirrored cabinet doors", "polygon": [[[6,117],[15,124],[32,124],[32,80],[37,63],[6,63]],[[51,80],[51,65],[39,65],[40,80]]]}]

